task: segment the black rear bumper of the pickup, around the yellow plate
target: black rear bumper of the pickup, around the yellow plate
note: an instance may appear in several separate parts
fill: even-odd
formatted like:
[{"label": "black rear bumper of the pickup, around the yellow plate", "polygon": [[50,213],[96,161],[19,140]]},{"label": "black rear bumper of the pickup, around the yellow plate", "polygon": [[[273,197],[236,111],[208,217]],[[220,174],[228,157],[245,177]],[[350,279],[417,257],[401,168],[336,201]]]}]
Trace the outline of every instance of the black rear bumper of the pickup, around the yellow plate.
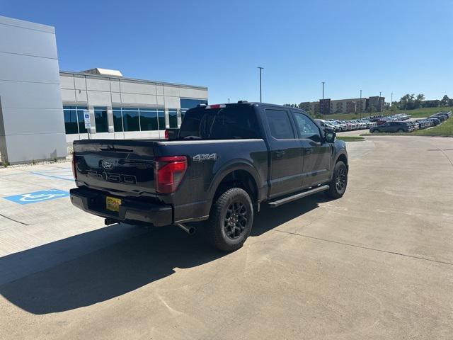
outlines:
[{"label": "black rear bumper of the pickup, around the yellow plate", "polygon": [[107,195],[103,191],[88,188],[74,188],[70,191],[71,203],[93,215],[121,222],[144,222],[155,227],[173,223],[171,205],[144,203],[133,198],[121,198],[120,211],[113,212],[105,209],[105,196]]}]

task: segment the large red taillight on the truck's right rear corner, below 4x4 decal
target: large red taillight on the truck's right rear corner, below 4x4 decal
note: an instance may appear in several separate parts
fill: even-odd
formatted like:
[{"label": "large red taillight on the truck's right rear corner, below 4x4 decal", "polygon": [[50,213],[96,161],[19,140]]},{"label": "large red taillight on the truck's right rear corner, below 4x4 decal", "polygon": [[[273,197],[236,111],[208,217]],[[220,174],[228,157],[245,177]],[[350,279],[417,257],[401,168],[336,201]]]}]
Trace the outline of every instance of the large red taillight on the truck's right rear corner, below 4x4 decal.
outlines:
[{"label": "large red taillight on the truck's right rear corner, below 4x4 decal", "polygon": [[178,188],[185,171],[185,156],[158,157],[154,161],[154,183],[158,193],[174,193]]}]

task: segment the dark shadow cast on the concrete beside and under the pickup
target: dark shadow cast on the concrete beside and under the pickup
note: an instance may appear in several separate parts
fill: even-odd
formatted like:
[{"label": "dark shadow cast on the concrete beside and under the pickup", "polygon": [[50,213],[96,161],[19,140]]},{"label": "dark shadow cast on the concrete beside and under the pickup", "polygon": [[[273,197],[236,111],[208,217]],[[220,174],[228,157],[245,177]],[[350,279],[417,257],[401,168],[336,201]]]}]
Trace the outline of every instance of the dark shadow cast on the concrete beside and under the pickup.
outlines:
[{"label": "dark shadow cast on the concrete beside and under the pickup", "polygon": [[[258,237],[316,208],[321,200],[323,197],[316,195],[280,208],[263,208],[256,215],[251,236]],[[174,268],[192,268],[228,256],[208,246],[201,232],[190,237],[177,227],[164,227],[135,233],[132,237],[125,234],[116,244],[66,262],[62,259],[50,268],[42,264],[54,261],[55,256],[64,256],[64,251],[55,249],[70,251],[71,247],[84,246],[90,239],[108,235],[112,227],[121,226],[77,235],[77,242],[69,237],[0,258],[0,273],[33,266],[36,259],[41,259],[42,266],[33,268],[34,273],[19,273],[16,280],[0,286],[0,294],[33,314],[64,312],[119,297],[171,276]]]}]

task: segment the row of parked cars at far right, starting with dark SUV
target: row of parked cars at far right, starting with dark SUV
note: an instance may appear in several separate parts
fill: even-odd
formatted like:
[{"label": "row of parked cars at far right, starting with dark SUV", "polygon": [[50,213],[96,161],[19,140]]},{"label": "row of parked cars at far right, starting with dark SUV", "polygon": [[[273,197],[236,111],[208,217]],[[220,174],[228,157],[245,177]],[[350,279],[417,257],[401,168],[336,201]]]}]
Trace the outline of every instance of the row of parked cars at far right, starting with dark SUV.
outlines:
[{"label": "row of parked cars at far right, starting with dark SUV", "polygon": [[415,130],[421,130],[430,128],[431,126],[439,125],[444,120],[447,120],[452,116],[452,112],[439,112],[425,119],[415,119],[415,120],[389,120],[380,125],[374,126],[369,129],[370,133],[377,132],[413,132]]}]

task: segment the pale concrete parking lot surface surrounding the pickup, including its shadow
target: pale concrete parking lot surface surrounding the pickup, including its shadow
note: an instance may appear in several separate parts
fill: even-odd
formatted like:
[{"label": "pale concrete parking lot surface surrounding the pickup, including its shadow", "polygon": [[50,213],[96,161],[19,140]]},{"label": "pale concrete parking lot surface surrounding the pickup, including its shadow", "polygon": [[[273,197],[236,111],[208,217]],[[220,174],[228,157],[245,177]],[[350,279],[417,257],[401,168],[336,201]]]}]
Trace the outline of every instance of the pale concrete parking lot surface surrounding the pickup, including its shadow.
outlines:
[{"label": "pale concrete parking lot surface surrounding the pickup, including its shadow", "polygon": [[231,254],[104,227],[70,163],[0,169],[1,339],[451,339],[453,139],[348,152],[343,198],[263,208]]}]

